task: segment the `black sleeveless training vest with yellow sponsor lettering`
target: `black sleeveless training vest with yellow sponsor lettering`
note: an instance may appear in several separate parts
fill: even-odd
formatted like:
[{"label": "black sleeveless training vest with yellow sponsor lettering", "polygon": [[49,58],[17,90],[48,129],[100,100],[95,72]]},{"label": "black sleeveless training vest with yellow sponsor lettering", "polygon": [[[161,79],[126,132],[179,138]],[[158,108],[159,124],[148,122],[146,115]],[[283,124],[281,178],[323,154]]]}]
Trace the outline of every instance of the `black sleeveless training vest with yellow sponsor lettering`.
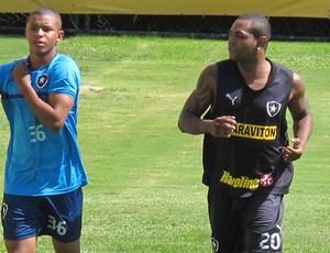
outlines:
[{"label": "black sleeveless training vest with yellow sponsor lettering", "polygon": [[230,139],[204,139],[204,184],[230,190],[234,197],[287,194],[293,165],[282,160],[288,145],[286,109],[293,72],[271,62],[272,74],[262,90],[252,90],[230,59],[217,63],[216,101],[205,119],[234,116]]}]

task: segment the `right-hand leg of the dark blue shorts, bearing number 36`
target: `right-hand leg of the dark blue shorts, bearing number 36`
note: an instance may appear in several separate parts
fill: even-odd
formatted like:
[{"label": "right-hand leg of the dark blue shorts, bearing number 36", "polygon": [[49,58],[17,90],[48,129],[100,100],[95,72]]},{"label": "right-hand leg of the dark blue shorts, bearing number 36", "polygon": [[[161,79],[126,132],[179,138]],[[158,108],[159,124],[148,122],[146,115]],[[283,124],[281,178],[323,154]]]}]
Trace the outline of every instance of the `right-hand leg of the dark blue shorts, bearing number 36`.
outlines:
[{"label": "right-hand leg of the dark blue shorts, bearing number 36", "polygon": [[82,190],[81,188],[56,196],[47,196],[42,202],[44,227],[42,234],[51,235],[58,242],[78,240],[81,232]]}]

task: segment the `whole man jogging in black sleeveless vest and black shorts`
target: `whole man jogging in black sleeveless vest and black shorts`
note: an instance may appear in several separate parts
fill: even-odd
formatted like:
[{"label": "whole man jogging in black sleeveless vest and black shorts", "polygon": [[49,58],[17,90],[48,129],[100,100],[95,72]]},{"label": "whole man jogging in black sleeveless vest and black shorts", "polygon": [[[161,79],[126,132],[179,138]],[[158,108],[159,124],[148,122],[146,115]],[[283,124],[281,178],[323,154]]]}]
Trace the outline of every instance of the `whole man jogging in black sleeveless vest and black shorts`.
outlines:
[{"label": "whole man jogging in black sleeveless vest and black shorts", "polygon": [[215,252],[282,252],[283,196],[314,121],[299,75],[265,57],[270,38],[265,16],[239,16],[229,59],[204,69],[179,116],[183,132],[205,134],[202,182]]}]

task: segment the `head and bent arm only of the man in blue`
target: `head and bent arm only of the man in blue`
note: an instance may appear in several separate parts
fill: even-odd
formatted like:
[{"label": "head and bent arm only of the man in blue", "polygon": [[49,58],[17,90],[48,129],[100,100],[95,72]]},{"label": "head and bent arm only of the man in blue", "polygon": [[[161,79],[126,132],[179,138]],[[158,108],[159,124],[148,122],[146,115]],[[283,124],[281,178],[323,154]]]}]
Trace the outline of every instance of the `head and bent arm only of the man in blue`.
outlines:
[{"label": "head and bent arm only of the man in blue", "polygon": [[57,132],[63,128],[74,100],[61,94],[51,94],[50,103],[38,99],[30,85],[30,68],[37,69],[54,58],[56,44],[63,40],[64,32],[56,16],[34,14],[26,24],[25,34],[30,45],[31,62],[30,65],[24,62],[18,64],[12,76],[38,120]]}]

